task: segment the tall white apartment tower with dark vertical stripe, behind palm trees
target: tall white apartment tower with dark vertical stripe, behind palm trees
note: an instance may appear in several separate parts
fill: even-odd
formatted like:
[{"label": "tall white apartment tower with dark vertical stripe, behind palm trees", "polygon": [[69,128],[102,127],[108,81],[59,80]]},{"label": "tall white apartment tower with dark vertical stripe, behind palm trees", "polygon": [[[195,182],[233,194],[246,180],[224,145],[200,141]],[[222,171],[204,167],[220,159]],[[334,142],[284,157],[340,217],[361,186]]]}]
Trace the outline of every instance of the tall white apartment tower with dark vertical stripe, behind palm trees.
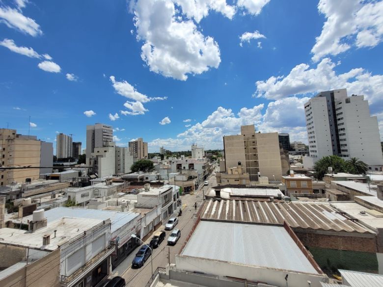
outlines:
[{"label": "tall white apartment tower with dark vertical stripe, behind palm trees", "polygon": [[357,157],[371,170],[383,166],[377,117],[370,116],[363,96],[347,96],[346,89],[325,91],[304,104],[310,167],[318,159],[336,155]]}]

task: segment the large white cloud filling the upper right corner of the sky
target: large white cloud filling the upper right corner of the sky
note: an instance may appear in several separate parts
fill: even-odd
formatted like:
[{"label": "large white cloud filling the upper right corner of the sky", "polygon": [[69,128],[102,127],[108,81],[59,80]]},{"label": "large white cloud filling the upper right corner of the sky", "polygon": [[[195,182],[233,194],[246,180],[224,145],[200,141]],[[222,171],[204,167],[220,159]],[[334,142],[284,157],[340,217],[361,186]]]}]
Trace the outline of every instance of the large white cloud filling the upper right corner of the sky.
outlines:
[{"label": "large white cloud filling the upper right corner of the sky", "polygon": [[375,47],[383,39],[383,1],[320,0],[319,13],[326,17],[321,34],[311,49],[312,60],[356,48]]}]

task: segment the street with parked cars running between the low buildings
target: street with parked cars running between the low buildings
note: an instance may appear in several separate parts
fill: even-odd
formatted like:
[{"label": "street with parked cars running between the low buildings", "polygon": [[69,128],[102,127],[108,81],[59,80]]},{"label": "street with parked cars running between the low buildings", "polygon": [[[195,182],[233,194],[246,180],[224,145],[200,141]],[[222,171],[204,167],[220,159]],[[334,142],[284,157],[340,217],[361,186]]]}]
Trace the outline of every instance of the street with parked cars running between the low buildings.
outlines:
[{"label": "street with parked cars running between the low buildings", "polygon": [[[170,235],[171,231],[165,231],[166,237],[161,245],[153,249],[153,270],[157,267],[165,267],[168,263],[168,256],[170,257],[170,263],[175,263],[175,255],[179,253],[186,237],[189,235],[194,224],[193,215],[196,214],[198,209],[203,204],[203,192],[206,193],[208,189],[217,184],[216,177],[210,176],[208,179],[209,185],[201,185],[200,188],[194,194],[182,195],[180,198],[182,200],[182,216],[179,216],[179,222],[175,228],[181,230],[181,237],[174,246],[167,245],[167,238]],[[194,209],[194,203],[197,203],[197,210]],[[175,215],[177,213],[174,213]],[[163,225],[157,229],[164,230],[164,225],[166,222],[163,222]],[[151,238],[148,238],[145,243],[149,244]],[[145,286],[151,277],[151,257],[145,262],[144,266],[139,269],[132,269],[132,261],[138,251],[139,247],[132,252],[123,262],[120,263],[112,272],[112,276],[121,276],[126,281],[126,286],[140,287]]]}]

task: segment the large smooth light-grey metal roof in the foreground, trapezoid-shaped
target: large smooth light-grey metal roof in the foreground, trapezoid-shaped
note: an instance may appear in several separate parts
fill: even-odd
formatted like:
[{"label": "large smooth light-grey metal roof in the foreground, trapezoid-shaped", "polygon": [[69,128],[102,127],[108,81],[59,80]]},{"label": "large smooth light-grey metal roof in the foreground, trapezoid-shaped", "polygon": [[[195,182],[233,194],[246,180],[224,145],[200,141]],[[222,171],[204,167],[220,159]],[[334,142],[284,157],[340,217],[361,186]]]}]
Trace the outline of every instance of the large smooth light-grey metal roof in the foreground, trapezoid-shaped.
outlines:
[{"label": "large smooth light-grey metal roof in the foreground, trapezoid-shaped", "polygon": [[181,255],[318,274],[284,227],[200,221]]}]

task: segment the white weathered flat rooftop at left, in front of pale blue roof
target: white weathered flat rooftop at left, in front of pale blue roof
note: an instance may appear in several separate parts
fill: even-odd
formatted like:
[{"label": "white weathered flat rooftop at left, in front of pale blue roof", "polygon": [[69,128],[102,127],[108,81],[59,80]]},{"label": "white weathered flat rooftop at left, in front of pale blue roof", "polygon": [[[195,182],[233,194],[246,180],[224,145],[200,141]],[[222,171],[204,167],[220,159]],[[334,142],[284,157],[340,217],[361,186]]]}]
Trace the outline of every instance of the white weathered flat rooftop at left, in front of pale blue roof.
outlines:
[{"label": "white weathered flat rooftop at left, in front of pale blue roof", "polygon": [[[77,235],[84,234],[84,231],[88,231],[100,223],[103,223],[103,220],[62,217],[58,220],[48,222],[46,227],[40,228],[35,232],[13,228],[1,228],[0,244],[17,244],[34,249],[53,251],[63,243]],[[56,236],[54,236],[54,230],[57,231]],[[43,245],[43,235],[51,235],[49,245]]]}]

